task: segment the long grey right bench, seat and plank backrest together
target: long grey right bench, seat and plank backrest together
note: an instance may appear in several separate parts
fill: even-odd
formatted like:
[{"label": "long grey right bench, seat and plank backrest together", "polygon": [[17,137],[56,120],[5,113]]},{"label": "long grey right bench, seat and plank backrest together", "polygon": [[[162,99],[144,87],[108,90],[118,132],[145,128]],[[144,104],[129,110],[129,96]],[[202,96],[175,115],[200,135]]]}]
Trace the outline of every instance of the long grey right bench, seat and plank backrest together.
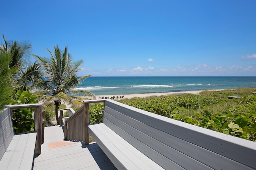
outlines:
[{"label": "long grey right bench, seat and plank backrest together", "polygon": [[256,168],[256,142],[101,101],[103,123],[88,132],[117,169]]}]

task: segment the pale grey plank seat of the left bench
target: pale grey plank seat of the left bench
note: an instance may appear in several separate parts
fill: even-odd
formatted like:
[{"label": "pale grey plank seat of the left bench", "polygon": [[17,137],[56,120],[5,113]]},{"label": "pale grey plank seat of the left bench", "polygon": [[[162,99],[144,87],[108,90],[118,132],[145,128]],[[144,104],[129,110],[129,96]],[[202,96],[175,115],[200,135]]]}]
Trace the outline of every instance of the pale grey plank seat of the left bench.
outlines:
[{"label": "pale grey plank seat of the left bench", "polygon": [[28,170],[32,168],[36,132],[16,134],[0,160],[0,169]]}]

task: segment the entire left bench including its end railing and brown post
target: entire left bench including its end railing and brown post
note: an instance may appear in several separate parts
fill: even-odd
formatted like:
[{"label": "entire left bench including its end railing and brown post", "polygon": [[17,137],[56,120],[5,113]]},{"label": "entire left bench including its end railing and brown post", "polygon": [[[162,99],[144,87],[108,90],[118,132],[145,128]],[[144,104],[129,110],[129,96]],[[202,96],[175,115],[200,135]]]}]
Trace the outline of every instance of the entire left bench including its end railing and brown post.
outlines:
[{"label": "entire left bench including its end railing and brown post", "polygon": [[[12,110],[34,108],[35,132],[14,134]],[[44,143],[42,104],[8,105],[0,114],[1,169],[31,169],[34,155],[41,154]]]}]

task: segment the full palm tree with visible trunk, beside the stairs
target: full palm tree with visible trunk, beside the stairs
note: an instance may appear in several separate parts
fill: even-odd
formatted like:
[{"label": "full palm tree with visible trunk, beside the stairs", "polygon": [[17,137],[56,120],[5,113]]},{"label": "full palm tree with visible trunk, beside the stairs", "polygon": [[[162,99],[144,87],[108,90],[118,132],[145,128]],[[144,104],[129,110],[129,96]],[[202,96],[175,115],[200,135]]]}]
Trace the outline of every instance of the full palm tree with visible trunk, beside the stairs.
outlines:
[{"label": "full palm tree with visible trunk, beside the stairs", "polygon": [[56,121],[58,122],[58,107],[62,101],[73,103],[87,99],[85,96],[94,99],[95,96],[90,91],[75,90],[79,83],[90,77],[90,75],[86,75],[77,79],[76,74],[82,67],[82,60],[73,61],[67,46],[61,51],[57,45],[54,47],[54,54],[49,49],[47,50],[51,54],[50,58],[33,55],[44,69],[44,78],[40,82],[41,88],[36,93],[46,99],[44,103],[54,103]]}]

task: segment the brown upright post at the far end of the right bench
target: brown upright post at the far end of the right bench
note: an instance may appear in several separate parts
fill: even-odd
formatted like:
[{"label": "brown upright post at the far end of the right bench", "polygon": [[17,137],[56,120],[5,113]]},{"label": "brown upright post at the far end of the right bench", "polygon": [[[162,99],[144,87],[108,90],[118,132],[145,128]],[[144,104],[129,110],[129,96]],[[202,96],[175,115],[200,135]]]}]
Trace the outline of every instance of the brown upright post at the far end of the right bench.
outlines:
[{"label": "brown upright post at the far end of the right bench", "polygon": [[89,132],[88,132],[88,125],[90,123],[90,113],[89,113],[89,106],[90,103],[85,103],[84,102],[84,145],[87,145],[90,143],[90,137],[89,137]]}]

